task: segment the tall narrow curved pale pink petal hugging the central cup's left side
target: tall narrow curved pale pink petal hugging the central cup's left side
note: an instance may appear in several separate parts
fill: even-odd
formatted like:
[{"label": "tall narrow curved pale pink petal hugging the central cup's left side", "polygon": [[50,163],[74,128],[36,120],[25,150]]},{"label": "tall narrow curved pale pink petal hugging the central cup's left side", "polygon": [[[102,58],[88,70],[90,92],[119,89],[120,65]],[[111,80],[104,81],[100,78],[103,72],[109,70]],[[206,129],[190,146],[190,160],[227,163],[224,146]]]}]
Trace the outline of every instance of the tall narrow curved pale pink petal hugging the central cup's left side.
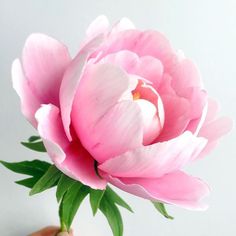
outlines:
[{"label": "tall narrow curved pale pink petal hugging the central cup's left side", "polygon": [[84,72],[87,59],[103,40],[103,35],[98,35],[79,51],[73,59],[70,66],[67,68],[60,88],[60,107],[64,129],[68,139],[71,141],[70,124],[71,124],[71,109],[75,93],[80,83],[81,76]]}]

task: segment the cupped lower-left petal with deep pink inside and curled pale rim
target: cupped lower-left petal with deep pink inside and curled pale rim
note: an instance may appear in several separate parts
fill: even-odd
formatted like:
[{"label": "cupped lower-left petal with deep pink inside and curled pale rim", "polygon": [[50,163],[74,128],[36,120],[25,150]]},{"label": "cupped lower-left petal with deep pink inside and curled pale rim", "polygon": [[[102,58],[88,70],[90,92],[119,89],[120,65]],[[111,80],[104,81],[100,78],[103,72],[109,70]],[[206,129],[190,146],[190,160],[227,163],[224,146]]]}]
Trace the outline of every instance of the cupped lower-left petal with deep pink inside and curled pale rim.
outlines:
[{"label": "cupped lower-left petal with deep pink inside and curled pale rim", "polygon": [[65,135],[57,107],[43,105],[36,113],[38,131],[49,156],[66,175],[95,189],[104,189],[106,181],[97,176],[94,160],[78,142]]}]

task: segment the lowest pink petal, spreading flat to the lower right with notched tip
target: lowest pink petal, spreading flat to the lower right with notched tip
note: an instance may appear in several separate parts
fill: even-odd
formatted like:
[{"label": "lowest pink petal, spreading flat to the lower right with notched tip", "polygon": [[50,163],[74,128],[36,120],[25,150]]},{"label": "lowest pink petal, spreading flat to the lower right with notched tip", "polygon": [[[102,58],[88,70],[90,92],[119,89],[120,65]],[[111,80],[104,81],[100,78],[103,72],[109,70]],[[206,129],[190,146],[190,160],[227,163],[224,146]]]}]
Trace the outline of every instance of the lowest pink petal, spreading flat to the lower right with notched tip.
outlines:
[{"label": "lowest pink petal, spreading flat to the lower right with notched tip", "polygon": [[115,178],[107,177],[118,188],[153,201],[161,201],[191,210],[205,210],[201,200],[209,194],[208,186],[200,179],[181,171],[161,178]]}]

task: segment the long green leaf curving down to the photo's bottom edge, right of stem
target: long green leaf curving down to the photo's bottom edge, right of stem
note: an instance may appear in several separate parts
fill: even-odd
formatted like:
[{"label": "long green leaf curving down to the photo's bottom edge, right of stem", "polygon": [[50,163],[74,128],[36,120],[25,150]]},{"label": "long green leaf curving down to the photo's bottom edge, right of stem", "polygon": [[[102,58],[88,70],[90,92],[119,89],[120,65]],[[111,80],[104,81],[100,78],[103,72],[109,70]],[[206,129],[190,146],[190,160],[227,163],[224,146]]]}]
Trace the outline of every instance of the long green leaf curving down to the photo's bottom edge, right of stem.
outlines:
[{"label": "long green leaf curving down to the photo's bottom edge, right of stem", "polygon": [[123,222],[121,218],[120,211],[114,202],[107,196],[107,192],[105,192],[99,209],[107,218],[107,221],[111,227],[114,236],[122,236],[123,235]]}]

